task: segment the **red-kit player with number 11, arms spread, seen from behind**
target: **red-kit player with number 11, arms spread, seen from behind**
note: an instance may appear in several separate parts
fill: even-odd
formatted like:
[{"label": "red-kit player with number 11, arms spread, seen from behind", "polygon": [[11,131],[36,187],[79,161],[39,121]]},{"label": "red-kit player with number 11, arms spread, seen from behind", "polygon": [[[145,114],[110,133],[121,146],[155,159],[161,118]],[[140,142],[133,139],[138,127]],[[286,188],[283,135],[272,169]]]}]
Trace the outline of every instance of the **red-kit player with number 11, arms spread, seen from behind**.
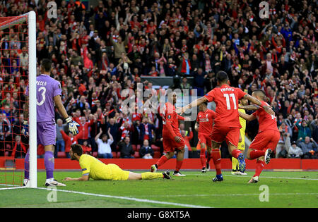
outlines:
[{"label": "red-kit player with number 11, arms spread, seen from behind", "polygon": [[[243,92],[239,88],[230,87],[228,80],[228,74],[224,71],[219,71],[216,74],[218,80],[218,86],[211,90],[204,97],[192,101],[191,104],[179,109],[179,113],[184,113],[187,109],[195,106],[199,106],[205,101],[214,101],[216,103],[216,119],[213,126],[212,138],[212,159],[213,161],[220,162],[220,144],[225,140],[228,144],[228,151],[231,156],[234,156],[239,161],[239,171],[245,171],[245,159],[237,149],[237,144],[240,138],[240,125],[239,113],[238,113],[238,101],[239,99],[247,99],[252,103],[262,106],[263,109],[274,114],[271,108],[266,104],[261,104],[261,101],[255,97],[251,97],[249,94]],[[218,166],[218,168],[217,168]],[[223,175],[220,170],[220,164],[216,166],[216,177],[213,178],[213,182],[222,181]]]}]

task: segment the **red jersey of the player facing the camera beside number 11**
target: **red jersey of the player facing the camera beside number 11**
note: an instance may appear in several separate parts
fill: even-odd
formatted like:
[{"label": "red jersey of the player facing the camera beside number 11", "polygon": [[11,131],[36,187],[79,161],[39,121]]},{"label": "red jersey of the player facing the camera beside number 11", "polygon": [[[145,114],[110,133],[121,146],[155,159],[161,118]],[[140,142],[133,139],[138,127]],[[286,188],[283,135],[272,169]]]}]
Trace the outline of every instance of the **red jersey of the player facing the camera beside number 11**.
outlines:
[{"label": "red jersey of the player facing the camera beside number 11", "polygon": [[213,129],[213,120],[216,118],[216,112],[211,109],[199,111],[196,122],[199,123],[199,133],[210,135]]}]

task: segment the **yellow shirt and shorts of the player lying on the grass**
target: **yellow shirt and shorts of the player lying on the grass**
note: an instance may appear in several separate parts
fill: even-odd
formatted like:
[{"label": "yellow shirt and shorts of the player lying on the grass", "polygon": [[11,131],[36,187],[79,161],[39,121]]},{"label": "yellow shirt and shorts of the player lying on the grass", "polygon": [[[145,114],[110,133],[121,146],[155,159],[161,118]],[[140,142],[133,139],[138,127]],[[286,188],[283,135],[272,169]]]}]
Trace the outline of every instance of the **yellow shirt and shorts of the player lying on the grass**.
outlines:
[{"label": "yellow shirt and shorts of the player lying on the grass", "polygon": [[88,175],[94,180],[127,180],[129,176],[129,171],[123,171],[116,164],[104,164],[88,154],[81,155],[79,164],[82,175]]}]

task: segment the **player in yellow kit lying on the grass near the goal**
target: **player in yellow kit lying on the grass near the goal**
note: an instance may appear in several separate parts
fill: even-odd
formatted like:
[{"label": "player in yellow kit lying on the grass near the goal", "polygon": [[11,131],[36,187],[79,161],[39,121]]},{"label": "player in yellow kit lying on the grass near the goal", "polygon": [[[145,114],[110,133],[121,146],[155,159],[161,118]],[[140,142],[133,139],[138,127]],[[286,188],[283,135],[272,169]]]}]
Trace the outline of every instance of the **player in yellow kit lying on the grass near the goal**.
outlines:
[{"label": "player in yellow kit lying on the grass near the goal", "polygon": [[71,160],[79,161],[82,168],[81,178],[65,178],[68,180],[151,180],[155,178],[170,179],[170,173],[133,173],[130,171],[123,171],[116,164],[104,164],[102,161],[96,159],[94,156],[83,154],[83,149],[79,144],[71,145],[69,152]]}]

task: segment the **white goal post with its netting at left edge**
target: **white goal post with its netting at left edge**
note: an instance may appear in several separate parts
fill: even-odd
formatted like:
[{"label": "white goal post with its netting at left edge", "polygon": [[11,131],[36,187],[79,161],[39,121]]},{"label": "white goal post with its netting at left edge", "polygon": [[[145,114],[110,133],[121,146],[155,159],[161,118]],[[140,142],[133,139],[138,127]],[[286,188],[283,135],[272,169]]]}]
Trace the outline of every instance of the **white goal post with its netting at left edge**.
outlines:
[{"label": "white goal post with its netting at left edge", "polygon": [[[28,32],[21,31],[21,29],[25,30],[28,29]],[[13,17],[2,17],[0,18],[0,32],[1,32],[1,42],[0,42],[0,52],[1,52],[1,59],[0,59],[0,68],[1,68],[1,94],[4,97],[4,94],[8,94],[8,97],[12,97],[13,90],[17,88],[20,89],[20,78],[26,78],[28,82],[28,104],[29,104],[29,182],[28,187],[37,187],[37,97],[36,97],[36,76],[37,76],[37,57],[36,57],[36,14],[34,11],[30,11],[25,13],[21,16],[13,16]],[[2,36],[4,35],[4,37]],[[6,39],[8,36],[8,39]],[[12,36],[15,38],[13,39]],[[17,39],[16,39],[17,38]],[[5,46],[5,47],[4,47]],[[22,49],[23,47],[23,49]],[[20,54],[17,53],[21,51],[25,51],[28,54],[28,62],[25,61],[24,66],[22,64]],[[18,56],[17,56],[18,54]],[[20,73],[20,70],[23,70],[23,74]],[[23,76],[24,75],[24,76]],[[27,76],[26,76],[27,75]],[[9,78],[7,78],[9,76]],[[5,79],[6,77],[6,79]],[[9,81],[7,81],[9,79]],[[16,80],[16,82],[13,82]],[[18,79],[18,80],[17,80]],[[15,86],[14,86],[15,85]],[[8,87],[11,87],[8,90]],[[13,89],[13,90],[12,90]],[[16,90],[17,91],[17,90]],[[22,93],[19,91],[19,93]],[[11,94],[11,95],[10,95]],[[3,99],[3,98],[2,98]],[[6,98],[7,99],[7,98]],[[10,99],[10,98],[9,98]],[[8,99],[7,99],[8,100]],[[13,100],[14,101],[14,100]],[[19,104],[25,103],[25,101],[18,101]],[[1,106],[2,109],[2,106]],[[14,108],[16,110],[16,108]],[[1,112],[2,113],[2,112]],[[11,128],[14,128],[14,120],[18,118],[18,115],[23,113],[23,107],[18,107],[18,114],[13,113],[10,108],[10,114],[4,117],[8,119],[8,124],[11,124]],[[2,118],[2,116],[1,116]],[[20,129],[22,129],[20,127]],[[3,145],[3,152],[4,152],[4,159],[6,157],[15,158],[14,156],[10,156],[10,152],[16,143],[15,137],[18,132],[13,133],[11,130],[11,137],[9,140],[6,140],[4,137],[4,145]],[[23,135],[20,132],[20,137]],[[9,148],[8,148],[9,147]],[[6,150],[10,149],[10,150]],[[0,156],[0,158],[3,156]],[[14,159],[15,162],[16,159]],[[19,163],[21,163],[21,159]],[[20,166],[19,169],[21,170],[20,180],[23,181],[23,166]],[[13,168],[13,171],[16,168]],[[9,174],[12,175],[13,179],[7,180],[5,179],[6,184],[11,185],[23,185],[23,183],[16,182],[14,179],[15,173]],[[6,173],[4,175],[6,177]],[[10,181],[7,183],[7,181]]]}]

